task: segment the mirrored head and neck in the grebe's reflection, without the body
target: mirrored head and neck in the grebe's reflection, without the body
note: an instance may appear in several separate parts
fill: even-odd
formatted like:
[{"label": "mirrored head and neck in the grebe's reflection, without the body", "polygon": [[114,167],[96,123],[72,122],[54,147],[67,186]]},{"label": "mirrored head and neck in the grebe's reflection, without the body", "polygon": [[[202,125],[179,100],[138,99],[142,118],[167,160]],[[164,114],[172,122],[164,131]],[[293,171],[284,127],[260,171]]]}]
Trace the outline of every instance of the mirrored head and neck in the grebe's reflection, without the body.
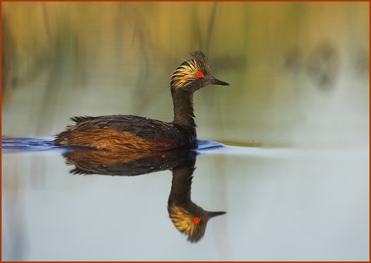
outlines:
[{"label": "mirrored head and neck in the grebe's reflection, without the body", "polygon": [[174,226],[188,236],[191,243],[198,242],[205,234],[209,219],[226,212],[209,212],[191,201],[192,174],[196,159],[173,168],[173,181],[168,201],[168,212]]}]

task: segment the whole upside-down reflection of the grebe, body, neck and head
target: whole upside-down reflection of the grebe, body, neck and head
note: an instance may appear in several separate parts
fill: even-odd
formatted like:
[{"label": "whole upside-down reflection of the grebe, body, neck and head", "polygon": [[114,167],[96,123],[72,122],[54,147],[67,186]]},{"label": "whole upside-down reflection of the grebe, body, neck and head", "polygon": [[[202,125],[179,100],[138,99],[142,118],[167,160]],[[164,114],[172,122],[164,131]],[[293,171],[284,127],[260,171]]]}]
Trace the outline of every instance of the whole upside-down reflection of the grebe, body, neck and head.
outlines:
[{"label": "whole upside-down reflection of the grebe, body, neck and head", "polygon": [[205,234],[210,218],[225,212],[209,212],[191,201],[192,174],[197,152],[176,149],[167,152],[109,152],[82,149],[64,154],[67,164],[76,166],[72,174],[135,176],[171,170],[173,181],[168,201],[169,217],[192,243]]}]

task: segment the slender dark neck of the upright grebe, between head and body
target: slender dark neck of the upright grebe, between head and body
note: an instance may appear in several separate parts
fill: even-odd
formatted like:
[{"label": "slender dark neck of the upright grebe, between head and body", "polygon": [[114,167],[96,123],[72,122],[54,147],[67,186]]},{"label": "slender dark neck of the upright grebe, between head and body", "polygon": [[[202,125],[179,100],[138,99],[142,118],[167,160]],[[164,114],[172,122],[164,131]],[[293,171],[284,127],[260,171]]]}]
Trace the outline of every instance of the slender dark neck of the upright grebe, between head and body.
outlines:
[{"label": "slender dark neck of the upright grebe, between head and body", "polygon": [[193,92],[181,89],[171,89],[174,104],[174,124],[183,127],[195,128],[196,123],[193,114]]}]

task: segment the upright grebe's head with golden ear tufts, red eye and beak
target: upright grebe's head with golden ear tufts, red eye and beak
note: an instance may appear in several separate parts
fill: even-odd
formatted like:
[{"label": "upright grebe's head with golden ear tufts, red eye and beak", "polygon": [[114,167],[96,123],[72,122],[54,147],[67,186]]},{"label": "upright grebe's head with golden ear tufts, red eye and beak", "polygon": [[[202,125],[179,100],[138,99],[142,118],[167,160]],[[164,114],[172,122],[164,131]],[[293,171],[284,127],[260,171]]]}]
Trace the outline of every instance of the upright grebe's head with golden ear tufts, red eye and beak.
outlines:
[{"label": "upright grebe's head with golden ear tufts, red eye and beak", "polygon": [[201,51],[191,53],[191,56],[192,58],[185,60],[178,66],[171,77],[172,91],[182,89],[195,92],[208,84],[229,85],[211,75],[208,59]]}]

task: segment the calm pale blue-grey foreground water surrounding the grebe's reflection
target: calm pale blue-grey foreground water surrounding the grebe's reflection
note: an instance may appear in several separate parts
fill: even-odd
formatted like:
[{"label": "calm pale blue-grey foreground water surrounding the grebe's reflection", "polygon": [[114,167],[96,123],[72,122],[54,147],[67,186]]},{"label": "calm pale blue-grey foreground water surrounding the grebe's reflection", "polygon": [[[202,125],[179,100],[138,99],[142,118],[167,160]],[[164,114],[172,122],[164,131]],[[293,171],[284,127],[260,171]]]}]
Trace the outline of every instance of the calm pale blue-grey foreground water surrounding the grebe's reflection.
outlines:
[{"label": "calm pale blue-grey foreground water surrounding the grebe's reflection", "polygon": [[368,150],[200,141],[199,242],[167,211],[172,173],[72,175],[49,139],[3,138],[3,260],[366,260]]}]

